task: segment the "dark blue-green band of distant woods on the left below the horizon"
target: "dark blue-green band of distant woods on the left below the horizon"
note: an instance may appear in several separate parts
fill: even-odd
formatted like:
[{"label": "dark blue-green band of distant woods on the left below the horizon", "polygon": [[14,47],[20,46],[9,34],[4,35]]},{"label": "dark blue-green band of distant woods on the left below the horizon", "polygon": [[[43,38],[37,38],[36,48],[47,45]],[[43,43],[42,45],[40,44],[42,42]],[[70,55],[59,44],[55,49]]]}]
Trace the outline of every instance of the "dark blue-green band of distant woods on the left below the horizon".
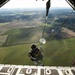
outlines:
[{"label": "dark blue-green band of distant woods on the left below the horizon", "polygon": [[30,16],[29,15],[4,15],[1,16],[0,15],[0,23],[4,23],[4,22],[10,22],[13,20],[30,20]]}]

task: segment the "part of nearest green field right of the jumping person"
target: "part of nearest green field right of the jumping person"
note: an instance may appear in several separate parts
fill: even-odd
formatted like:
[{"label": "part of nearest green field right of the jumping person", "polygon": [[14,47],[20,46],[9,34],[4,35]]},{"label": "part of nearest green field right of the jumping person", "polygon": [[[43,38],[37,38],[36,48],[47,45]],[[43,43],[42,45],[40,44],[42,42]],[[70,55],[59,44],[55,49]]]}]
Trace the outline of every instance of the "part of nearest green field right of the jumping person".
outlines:
[{"label": "part of nearest green field right of the jumping person", "polygon": [[[48,41],[44,49],[44,63],[55,66],[71,66],[75,57],[75,38]],[[65,44],[66,43],[66,44]],[[46,58],[48,62],[46,63]],[[50,62],[49,62],[50,60]]]}]

